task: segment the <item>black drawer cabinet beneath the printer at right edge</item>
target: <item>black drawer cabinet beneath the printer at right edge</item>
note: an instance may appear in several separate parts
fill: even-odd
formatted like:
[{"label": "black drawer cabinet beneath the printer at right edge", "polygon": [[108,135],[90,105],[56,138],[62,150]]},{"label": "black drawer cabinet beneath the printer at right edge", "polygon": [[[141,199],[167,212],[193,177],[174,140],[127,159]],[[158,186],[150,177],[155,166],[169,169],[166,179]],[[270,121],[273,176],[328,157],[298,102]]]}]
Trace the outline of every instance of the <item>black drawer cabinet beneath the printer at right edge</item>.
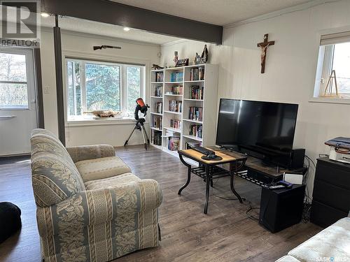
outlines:
[{"label": "black drawer cabinet beneath the printer at right edge", "polygon": [[350,210],[350,164],[317,159],[312,194],[312,223],[327,227],[347,217]]}]

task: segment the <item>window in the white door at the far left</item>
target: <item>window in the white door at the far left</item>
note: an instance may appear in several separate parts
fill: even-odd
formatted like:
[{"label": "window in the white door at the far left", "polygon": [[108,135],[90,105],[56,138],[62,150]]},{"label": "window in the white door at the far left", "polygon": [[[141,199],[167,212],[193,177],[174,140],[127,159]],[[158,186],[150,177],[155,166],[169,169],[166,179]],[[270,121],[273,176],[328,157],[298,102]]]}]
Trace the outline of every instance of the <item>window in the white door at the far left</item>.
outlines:
[{"label": "window in the white door at the far left", "polygon": [[0,52],[0,108],[28,108],[25,54]]}]

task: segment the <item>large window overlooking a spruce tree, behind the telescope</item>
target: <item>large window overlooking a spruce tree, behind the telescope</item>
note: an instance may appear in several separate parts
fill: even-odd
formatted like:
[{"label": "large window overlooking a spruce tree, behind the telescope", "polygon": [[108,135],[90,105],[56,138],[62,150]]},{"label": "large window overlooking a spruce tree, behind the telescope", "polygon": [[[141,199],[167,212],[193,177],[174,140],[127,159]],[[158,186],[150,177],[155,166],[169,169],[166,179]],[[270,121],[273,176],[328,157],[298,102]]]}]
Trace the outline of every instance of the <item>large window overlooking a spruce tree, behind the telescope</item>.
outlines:
[{"label": "large window overlooking a spruce tree, behind the telescope", "polygon": [[85,111],[114,110],[133,115],[144,96],[145,66],[66,59],[68,120]]}]

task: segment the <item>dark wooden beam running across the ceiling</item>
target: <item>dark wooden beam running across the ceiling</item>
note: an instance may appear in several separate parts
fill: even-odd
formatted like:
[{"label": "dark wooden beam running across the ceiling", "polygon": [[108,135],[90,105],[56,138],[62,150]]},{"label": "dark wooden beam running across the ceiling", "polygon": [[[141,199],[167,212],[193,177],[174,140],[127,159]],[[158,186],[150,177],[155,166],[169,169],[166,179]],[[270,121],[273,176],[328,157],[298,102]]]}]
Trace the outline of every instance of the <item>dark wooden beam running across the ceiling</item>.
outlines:
[{"label": "dark wooden beam running across the ceiling", "polygon": [[221,44],[223,27],[108,0],[43,0],[41,10],[152,33]]}]

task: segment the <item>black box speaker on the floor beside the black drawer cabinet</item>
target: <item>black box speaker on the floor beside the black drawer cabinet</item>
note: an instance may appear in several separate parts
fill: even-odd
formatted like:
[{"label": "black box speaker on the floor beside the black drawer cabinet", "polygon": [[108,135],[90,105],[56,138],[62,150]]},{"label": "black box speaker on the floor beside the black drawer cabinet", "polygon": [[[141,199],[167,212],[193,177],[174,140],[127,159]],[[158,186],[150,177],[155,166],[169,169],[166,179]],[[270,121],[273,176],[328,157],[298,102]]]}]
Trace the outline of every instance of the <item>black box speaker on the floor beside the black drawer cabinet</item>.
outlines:
[{"label": "black box speaker on the floor beside the black drawer cabinet", "polygon": [[298,224],[302,220],[305,185],[290,189],[261,189],[259,224],[272,233]]}]

